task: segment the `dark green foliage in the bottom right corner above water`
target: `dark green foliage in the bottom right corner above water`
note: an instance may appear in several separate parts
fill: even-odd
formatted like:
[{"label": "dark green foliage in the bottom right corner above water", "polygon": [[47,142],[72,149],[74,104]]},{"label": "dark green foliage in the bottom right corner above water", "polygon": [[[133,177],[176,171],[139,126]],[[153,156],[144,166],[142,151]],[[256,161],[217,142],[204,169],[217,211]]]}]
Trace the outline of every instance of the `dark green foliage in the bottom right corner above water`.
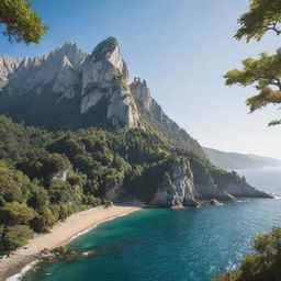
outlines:
[{"label": "dark green foliage in the bottom right corner above water", "polygon": [[261,233],[254,239],[256,252],[241,261],[240,269],[214,281],[278,281],[281,276],[281,227]]}]

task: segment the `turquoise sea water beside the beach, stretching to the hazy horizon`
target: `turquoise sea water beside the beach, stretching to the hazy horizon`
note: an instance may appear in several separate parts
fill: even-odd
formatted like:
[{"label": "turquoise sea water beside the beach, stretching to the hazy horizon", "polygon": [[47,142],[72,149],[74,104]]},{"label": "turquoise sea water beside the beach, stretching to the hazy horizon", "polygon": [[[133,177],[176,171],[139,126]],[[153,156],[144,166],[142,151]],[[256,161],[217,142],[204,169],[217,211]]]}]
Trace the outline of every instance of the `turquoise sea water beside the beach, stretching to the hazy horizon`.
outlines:
[{"label": "turquoise sea water beside the beach, stretching to the hazy horizon", "polygon": [[[281,193],[281,171],[274,184],[268,172],[240,171],[263,190]],[[280,211],[281,200],[269,199],[143,210],[100,224],[68,245],[95,255],[41,265],[24,281],[207,281],[234,269],[257,233],[281,225]]]}]

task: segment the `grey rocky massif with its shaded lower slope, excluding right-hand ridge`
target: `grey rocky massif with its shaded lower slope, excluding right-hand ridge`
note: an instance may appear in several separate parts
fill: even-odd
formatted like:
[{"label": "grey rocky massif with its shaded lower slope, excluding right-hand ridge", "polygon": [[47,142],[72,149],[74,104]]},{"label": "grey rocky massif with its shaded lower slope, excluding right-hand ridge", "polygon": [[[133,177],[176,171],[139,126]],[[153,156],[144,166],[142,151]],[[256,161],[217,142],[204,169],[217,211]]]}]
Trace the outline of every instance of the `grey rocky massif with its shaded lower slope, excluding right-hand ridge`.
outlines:
[{"label": "grey rocky massif with its shaded lower slope, excluding right-hand ridge", "polygon": [[[88,125],[142,127],[115,38],[101,42],[90,55],[66,43],[43,56],[9,59],[11,64],[2,70],[9,82],[1,113],[55,128],[71,127],[79,120],[77,126],[85,124],[85,115]],[[55,124],[46,116],[61,114],[64,121]]]}]

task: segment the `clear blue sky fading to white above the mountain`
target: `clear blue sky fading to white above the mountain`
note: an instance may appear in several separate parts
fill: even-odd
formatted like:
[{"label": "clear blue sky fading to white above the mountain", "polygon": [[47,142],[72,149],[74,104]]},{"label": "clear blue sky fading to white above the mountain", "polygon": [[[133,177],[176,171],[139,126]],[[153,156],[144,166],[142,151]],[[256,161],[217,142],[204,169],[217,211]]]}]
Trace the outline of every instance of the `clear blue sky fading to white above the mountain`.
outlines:
[{"label": "clear blue sky fading to white above the mountain", "polygon": [[91,53],[102,40],[119,40],[132,79],[146,79],[164,111],[201,145],[225,151],[281,158],[280,112],[269,106],[248,114],[252,87],[224,86],[223,75],[261,52],[273,53],[280,37],[237,42],[237,19],[248,0],[33,0],[49,25],[40,45],[11,44],[0,54],[45,54],[65,42]]}]

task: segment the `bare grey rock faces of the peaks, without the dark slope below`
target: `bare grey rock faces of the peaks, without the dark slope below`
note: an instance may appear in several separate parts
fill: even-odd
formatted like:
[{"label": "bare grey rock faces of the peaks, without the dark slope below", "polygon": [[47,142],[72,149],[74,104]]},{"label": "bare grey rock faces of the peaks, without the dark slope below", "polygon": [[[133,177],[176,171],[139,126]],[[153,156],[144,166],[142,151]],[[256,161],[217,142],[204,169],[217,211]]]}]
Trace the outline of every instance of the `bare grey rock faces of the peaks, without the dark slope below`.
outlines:
[{"label": "bare grey rock faces of the peaks, without the dark slope below", "polygon": [[81,114],[105,99],[104,114],[110,123],[142,127],[128,87],[128,70],[113,37],[101,42],[91,55],[77,44],[66,43],[34,58],[1,56],[0,79],[8,76],[5,90],[10,95],[53,91],[57,93],[55,104],[79,97],[80,104],[77,106]]}]

